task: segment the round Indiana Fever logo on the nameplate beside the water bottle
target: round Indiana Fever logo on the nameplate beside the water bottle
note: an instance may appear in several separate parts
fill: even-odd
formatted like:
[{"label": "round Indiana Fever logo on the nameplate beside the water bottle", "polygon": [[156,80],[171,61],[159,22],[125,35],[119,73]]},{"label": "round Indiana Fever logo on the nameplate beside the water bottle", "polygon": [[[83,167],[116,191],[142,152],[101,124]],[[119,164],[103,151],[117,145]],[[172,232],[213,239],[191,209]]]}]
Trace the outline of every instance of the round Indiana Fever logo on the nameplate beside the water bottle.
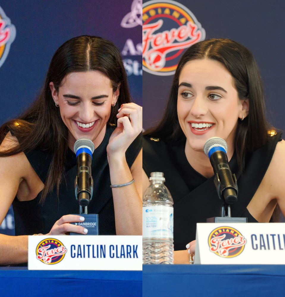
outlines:
[{"label": "round Indiana Fever logo on the nameplate beside the water bottle", "polygon": [[246,239],[234,228],[219,227],[209,236],[210,251],[223,258],[240,255],[246,244]]}]

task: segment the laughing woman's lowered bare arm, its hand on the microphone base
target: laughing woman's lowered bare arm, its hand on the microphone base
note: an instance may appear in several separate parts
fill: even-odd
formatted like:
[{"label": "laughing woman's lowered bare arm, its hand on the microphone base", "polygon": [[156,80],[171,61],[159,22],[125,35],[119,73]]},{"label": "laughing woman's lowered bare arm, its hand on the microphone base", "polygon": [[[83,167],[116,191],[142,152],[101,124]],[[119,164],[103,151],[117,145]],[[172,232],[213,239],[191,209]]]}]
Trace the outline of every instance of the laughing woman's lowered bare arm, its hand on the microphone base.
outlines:
[{"label": "laughing woman's lowered bare arm, its hand on the microphone base", "polygon": [[[9,132],[1,143],[0,151],[5,151],[17,144],[17,139]],[[18,192],[20,183],[29,177],[34,178],[35,174],[24,153],[0,157],[0,225]],[[82,226],[69,224],[69,222],[80,221],[80,216],[63,216],[47,235],[65,235],[67,232],[86,234]],[[28,262],[28,236],[0,234],[0,266],[26,262]]]}]

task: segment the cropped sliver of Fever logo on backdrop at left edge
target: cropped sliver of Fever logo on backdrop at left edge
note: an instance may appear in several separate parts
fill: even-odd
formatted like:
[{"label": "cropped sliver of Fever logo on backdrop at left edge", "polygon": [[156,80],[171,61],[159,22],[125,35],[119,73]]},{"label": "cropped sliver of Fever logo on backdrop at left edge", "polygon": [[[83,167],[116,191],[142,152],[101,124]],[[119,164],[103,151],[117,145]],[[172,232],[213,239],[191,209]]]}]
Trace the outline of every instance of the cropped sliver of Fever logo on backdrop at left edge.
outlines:
[{"label": "cropped sliver of Fever logo on backdrop at left edge", "polygon": [[10,45],[14,41],[16,36],[15,26],[11,24],[11,21],[5,15],[5,12],[0,7],[0,67],[6,60]]}]

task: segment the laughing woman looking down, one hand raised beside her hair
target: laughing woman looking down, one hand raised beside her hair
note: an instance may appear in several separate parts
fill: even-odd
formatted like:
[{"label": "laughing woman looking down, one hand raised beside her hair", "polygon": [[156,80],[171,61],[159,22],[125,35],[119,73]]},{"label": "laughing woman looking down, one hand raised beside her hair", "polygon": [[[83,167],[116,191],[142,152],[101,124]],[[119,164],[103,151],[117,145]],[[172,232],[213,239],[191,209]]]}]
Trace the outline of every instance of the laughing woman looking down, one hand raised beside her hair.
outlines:
[{"label": "laughing woman looking down, one hand raised beside her hair", "polygon": [[82,137],[95,146],[88,211],[99,214],[99,233],[141,234],[141,130],[115,45],[96,36],[65,42],[40,96],[0,129],[0,223],[13,203],[18,235],[0,235],[0,265],[27,262],[26,235],[86,234],[70,224],[84,220],[70,215],[79,209],[73,145]]}]

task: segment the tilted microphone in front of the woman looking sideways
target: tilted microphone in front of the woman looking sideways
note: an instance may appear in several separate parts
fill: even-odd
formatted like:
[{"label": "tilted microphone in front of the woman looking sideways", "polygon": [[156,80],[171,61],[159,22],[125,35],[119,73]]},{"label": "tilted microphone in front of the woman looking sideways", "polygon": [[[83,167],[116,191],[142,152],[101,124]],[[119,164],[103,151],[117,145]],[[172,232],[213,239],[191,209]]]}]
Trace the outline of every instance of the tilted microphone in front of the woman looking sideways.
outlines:
[{"label": "tilted microphone in front of the woman looking sideways", "polygon": [[229,168],[226,155],[227,143],[219,137],[209,138],[204,145],[204,153],[209,157],[215,173],[215,186],[222,201],[226,204],[237,202],[237,179]]}]

